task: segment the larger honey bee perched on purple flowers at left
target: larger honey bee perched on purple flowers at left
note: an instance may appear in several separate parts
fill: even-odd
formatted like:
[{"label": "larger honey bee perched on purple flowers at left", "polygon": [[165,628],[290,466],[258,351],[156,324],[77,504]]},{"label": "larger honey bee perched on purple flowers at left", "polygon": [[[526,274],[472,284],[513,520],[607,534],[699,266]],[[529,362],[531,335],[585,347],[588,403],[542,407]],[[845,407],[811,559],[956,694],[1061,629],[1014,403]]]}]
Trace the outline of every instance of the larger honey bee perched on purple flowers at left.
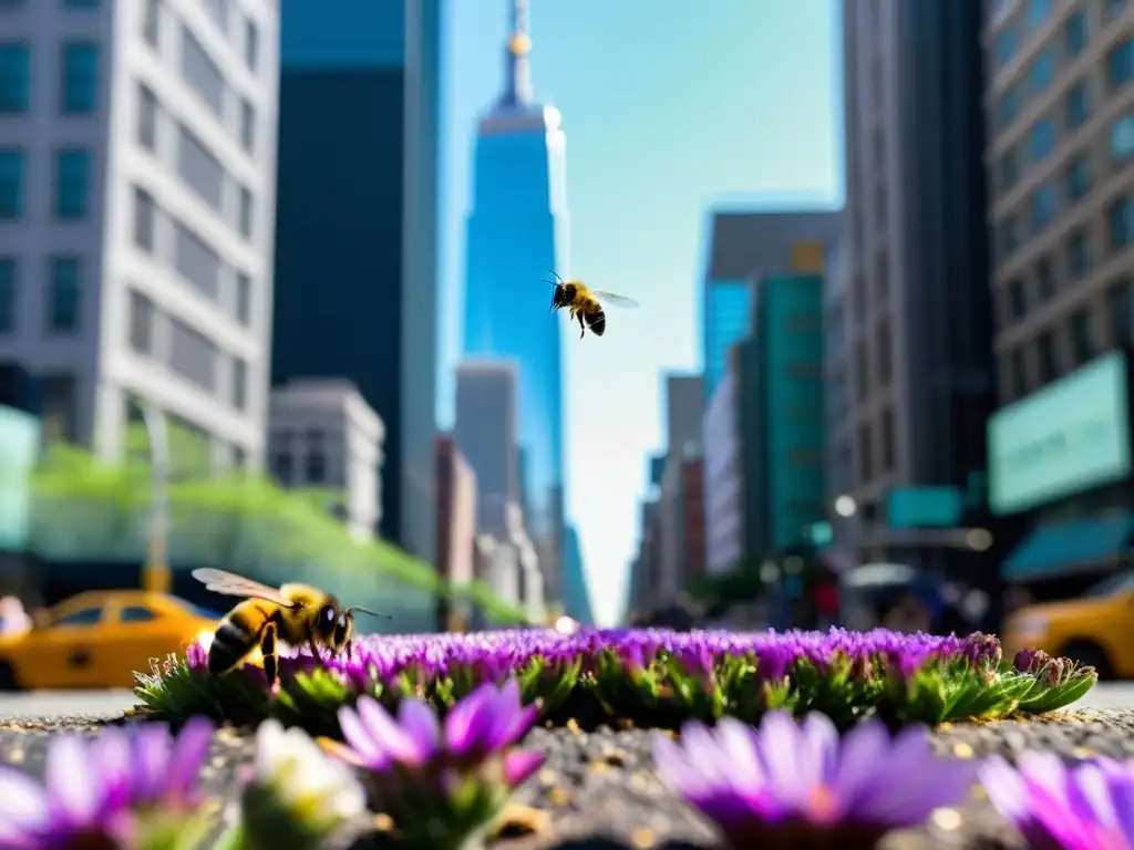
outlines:
[{"label": "larger honey bee perched on purple flowers at left", "polygon": [[209,672],[227,673],[259,648],[271,687],[279,679],[278,641],[289,646],[306,643],[316,658],[320,646],[335,654],[344,649],[349,653],[354,612],[384,617],[364,607],[340,607],[335,596],[311,585],[288,584],[277,590],[251,578],[208,568],[194,570],[193,577],[213,593],[244,597],[217,627],[209,646]]}]

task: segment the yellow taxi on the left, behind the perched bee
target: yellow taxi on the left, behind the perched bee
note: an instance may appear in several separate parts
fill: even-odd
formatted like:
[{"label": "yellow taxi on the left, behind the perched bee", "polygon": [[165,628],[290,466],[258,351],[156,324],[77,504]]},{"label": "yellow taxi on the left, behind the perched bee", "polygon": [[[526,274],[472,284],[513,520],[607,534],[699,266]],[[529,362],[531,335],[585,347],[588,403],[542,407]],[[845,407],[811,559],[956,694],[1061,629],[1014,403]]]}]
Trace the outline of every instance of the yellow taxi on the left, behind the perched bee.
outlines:
[{"label": "yellow taxi on the left, behind the perched bee", "polygon": [[0,688],[133,688],[135,671],[211,636],[218,619],[167,594],[87,590],[0,635]]}]

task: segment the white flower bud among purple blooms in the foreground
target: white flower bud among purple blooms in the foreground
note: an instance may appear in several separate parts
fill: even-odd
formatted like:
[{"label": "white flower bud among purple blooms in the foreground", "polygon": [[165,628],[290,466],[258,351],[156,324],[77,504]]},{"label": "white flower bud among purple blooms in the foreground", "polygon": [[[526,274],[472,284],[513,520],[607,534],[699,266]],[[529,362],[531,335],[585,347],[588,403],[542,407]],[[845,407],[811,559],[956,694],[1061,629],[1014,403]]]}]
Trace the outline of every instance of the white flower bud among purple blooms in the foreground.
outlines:
[{"label": "white flower bud among purple blooms in the foreground", "polygon": [[256,782],[280,807],[320,832],[330,832],[366,808],[350,768],[323,755],[302,729],[265,720],[256,730]]}]

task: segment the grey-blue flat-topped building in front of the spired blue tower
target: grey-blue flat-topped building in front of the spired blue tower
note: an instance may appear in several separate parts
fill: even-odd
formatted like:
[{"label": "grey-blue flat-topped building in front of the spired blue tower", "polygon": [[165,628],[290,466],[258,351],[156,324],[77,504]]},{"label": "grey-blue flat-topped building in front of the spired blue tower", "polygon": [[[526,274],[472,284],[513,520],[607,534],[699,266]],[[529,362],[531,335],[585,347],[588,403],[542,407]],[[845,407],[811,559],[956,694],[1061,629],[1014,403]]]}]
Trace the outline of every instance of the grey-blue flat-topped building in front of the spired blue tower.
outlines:
[{"label": "grey-blue flat-topped building in front of the spired blue tower", "polygon": [[457,365],[457,450],[476,474],[476,527],[500,534],[509,505],[522,505],[516,452],[516,367],[500,360]]}]

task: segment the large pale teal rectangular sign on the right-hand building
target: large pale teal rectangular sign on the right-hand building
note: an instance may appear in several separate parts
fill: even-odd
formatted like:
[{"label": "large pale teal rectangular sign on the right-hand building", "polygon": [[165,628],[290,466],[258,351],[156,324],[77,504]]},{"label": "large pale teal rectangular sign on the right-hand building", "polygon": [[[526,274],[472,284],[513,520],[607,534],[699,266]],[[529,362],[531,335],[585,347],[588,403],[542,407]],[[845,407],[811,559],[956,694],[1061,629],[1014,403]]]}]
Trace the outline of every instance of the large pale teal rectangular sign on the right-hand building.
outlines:
[{"label": "large pale teal rectangular sign on the right-hand building", "polygon": [[1126,357],[1105,355],[989,419],[989,508],[1018,513],[1131,474]]}]

